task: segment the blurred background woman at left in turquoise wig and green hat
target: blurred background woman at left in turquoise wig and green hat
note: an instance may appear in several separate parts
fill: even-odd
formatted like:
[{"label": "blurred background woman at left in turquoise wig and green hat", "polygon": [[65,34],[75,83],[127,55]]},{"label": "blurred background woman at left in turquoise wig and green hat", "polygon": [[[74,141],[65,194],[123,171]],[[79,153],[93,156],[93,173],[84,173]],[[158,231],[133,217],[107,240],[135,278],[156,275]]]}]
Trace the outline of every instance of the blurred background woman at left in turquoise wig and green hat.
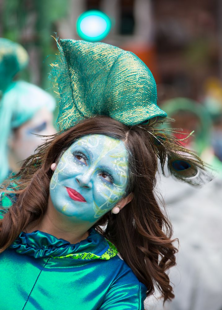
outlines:
[{"label": "blurred background woman at left in turquoise wig and green hat", "polygon": [[[15,74],[28,63],[20,44],[0,38],[0,183],[10,172],[18,172],[21,161],[34,153],[42,138],[52,135],[55,100],[38,86],[13,82]],[[33,135],[35,134],[35,135]]]}]

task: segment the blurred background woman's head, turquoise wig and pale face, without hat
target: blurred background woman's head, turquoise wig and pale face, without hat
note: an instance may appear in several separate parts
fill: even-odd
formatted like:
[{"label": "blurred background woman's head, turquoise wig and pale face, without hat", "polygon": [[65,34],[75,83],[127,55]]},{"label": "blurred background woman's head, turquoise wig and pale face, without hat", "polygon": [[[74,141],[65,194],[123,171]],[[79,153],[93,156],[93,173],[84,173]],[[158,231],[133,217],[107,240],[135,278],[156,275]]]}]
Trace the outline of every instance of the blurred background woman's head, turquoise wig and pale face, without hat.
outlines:
[{"label": "blurred background woman's head, turquoise wig and pale face, without hat", "polygon": [[35,152],[53,127],[55,100],[38,86],[11,83],[0,102],[0,182],[17,172],[21,161]]}]

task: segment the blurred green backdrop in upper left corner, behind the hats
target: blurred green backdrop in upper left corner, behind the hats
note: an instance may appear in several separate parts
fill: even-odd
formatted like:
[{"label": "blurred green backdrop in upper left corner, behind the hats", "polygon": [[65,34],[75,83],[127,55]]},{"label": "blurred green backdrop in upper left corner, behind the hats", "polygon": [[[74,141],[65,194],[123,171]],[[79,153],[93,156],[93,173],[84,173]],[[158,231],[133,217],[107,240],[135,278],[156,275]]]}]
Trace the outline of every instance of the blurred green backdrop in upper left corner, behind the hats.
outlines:
[{"label": "blurred green backdrop in upper left corner, behind the hats", "polygon": [[[50,87],[48,64],[55,58],[56,42],[51,35],[58,22],[68,14],[70,0],[3,0],[1,5],[1,36],[24,46],[30,56],[29,67],[19,78]],[[35,72],[33,72],[33,70]],[[35,78],[36,77],[36,78]]]}]

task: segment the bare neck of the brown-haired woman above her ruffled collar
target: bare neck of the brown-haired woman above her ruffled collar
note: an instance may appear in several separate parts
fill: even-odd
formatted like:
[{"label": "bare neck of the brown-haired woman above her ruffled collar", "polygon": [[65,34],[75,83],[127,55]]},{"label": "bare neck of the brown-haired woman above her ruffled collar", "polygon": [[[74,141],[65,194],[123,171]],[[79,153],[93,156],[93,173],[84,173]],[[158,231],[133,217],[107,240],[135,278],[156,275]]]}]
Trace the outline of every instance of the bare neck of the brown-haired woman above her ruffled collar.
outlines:
[{"label": "bare neck of the brown-haired woman above her ruffled collar", "polygon": [[58,239],[64,239],[71,244],[75,244],[88,237],[88,229],[89,227],[84,227],[82,224],[77,225],[76,223],[70,222],[69,219],[67,220],[65,215],[53,207],[51,198],[49,197],[47,212],[41,222],[34,225],[29,224],[25,228],[25,232],[39,230]]}]

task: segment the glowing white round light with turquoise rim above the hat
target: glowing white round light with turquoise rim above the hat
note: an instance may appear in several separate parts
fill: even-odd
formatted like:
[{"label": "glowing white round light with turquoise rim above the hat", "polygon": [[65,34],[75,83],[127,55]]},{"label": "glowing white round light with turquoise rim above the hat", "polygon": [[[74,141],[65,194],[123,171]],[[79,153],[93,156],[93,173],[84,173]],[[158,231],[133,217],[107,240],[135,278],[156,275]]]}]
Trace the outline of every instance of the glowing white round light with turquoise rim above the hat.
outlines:
[{"label": "glowing white round light with turquoise rim above the hat", "polygon": [[78,35],[83,40],[96,42],[108,35],[111,29],[111,20],[101,11],[90,10],[78,17],[76,27]]}]

